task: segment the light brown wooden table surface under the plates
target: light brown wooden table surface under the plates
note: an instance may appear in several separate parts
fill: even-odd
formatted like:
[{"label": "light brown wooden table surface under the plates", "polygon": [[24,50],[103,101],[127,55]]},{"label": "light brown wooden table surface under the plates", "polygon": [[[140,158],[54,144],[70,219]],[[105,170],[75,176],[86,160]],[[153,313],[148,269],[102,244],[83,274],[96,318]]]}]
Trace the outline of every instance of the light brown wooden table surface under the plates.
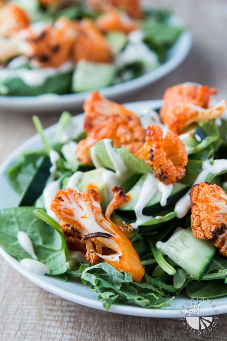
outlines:
[{"label": "light brown wooden table surface under the plates", "polygon": [[[122,101],[162,98],[165,88],[195,81],[216,87],[227,98],[227,1],[152,0],[172,8],[191,27],[191,53],[171,74]],[[58,115],[42,116],[44,127]],[[35,133],[28,114],[0,114],[0,162]],[[0,262],[0,340],[187,340],[201,339],[179,319],[131,317],[93,310],[54,296]],[[226,315],[205,339],[227,340]]]}]

